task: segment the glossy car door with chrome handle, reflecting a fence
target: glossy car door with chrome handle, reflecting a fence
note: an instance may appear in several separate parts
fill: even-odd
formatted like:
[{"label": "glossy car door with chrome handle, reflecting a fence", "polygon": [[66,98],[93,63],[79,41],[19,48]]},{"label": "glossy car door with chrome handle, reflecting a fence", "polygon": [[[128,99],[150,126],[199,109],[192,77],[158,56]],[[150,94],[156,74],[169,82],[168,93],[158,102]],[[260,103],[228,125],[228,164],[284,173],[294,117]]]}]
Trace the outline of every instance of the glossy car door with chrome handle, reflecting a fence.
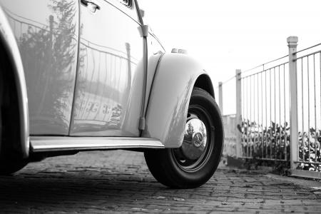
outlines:
[{"label": "glossy car door with chrome handle, reflecting a fence", "polygon": [[81,0],[71,136],[138,136],[143,39],[135,4]]}]

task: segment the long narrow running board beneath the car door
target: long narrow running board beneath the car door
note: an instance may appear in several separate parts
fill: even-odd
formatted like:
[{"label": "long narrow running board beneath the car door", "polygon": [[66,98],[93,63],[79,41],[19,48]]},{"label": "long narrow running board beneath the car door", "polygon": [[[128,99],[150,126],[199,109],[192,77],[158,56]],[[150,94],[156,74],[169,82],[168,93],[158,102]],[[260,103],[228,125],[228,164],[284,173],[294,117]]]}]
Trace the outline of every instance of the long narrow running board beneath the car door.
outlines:
[{"label": "long narrow running board beneath the car door", "polygon": [[31,152],[164,148],[155,138],[31,136]]}]

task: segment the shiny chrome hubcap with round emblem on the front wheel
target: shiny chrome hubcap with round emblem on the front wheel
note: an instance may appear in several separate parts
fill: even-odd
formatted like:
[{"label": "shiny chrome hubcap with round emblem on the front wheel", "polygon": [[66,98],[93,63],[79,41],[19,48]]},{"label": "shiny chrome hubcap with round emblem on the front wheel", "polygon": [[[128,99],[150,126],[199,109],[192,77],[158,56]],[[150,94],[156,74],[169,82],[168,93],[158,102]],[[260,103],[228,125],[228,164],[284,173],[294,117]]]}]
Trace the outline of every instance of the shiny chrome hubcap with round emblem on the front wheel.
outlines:
[{"label": "shiny chrome hubcap with round emblem on the front wheel", "polygon": [[202,156],[207,142],[205,124],[198,118],[187,121],[181,152],[185,158],[195,161]]}]

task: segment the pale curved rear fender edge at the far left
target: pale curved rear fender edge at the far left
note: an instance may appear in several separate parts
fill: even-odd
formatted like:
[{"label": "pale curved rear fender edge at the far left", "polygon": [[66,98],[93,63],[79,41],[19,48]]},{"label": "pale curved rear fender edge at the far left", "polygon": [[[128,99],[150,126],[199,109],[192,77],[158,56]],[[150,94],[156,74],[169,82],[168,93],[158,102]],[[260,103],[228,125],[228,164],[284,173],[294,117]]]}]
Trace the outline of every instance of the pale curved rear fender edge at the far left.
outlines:
[{"label": "pale curved rear fender edge at the far left", "polygon": [[5,54],[10,59],[11,69],[10,71],[1,72],[13,72],[17,91],[17,96],[19,100],[19,134],[20,142],[18,142],[21,151],[20,158],[27,158],[29,156],[29,111],[28,111],[28,98],[26,91],[26,78],[24,76],[24,67],[21,61],[20,52],[16,39],[12,32],[11,26],[9,25],[6,15],[0,6],[0,42],[4,46]]}]

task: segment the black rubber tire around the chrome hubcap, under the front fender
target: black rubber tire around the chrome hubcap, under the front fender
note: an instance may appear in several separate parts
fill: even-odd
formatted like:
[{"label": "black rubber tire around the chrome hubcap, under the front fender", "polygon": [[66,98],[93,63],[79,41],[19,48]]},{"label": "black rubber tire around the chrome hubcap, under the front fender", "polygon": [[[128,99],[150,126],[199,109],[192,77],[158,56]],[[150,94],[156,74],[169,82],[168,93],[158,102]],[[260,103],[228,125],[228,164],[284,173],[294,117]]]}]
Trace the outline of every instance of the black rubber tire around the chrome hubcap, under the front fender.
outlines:
[{"label": "black rubber tire around the chrome hubcap, under the front fender", "polygon": [[[220,109],[214,98],[208,92],[194,88],[190,97],[188,117],[192,114],[197,116],[206,128],[204,135],[206,140],[202,140],[206,142],[199,158],[194,160],[193,156],[186,158],[185,153],[182,155],[181,151],[183,149],[186,151],[186,146],[183,148],[183,145],[188,145],[184,144],[185,138],[188,138],[187,132],[185,132],[186,137],[184,136],[184,143],[180,148],[148,150],[144,153],[146,163],[154,178],[170,188],[197,188],[213,176],[220,163],[224,130]],[[191,145],[194,146],[194,143]],[[185,161],[181,158],[182,156]]]}]

